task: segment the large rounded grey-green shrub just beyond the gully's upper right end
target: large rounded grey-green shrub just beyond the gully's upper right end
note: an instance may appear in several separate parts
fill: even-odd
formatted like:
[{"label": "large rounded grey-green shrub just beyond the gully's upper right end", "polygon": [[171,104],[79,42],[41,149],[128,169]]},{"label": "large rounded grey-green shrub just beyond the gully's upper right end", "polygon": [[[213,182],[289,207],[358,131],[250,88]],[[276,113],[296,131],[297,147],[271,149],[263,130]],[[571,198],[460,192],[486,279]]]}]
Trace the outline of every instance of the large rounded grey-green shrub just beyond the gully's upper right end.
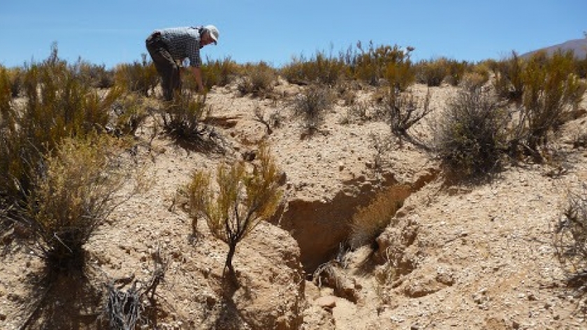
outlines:
[{"label": "large rounded grey-green shrub just beyond the gully's upper right end", "polygon": [[435,125],[435,149],[449,172],[463,179],[499,168],[507,149],[507,112],[480,89],[462,90]]}]

